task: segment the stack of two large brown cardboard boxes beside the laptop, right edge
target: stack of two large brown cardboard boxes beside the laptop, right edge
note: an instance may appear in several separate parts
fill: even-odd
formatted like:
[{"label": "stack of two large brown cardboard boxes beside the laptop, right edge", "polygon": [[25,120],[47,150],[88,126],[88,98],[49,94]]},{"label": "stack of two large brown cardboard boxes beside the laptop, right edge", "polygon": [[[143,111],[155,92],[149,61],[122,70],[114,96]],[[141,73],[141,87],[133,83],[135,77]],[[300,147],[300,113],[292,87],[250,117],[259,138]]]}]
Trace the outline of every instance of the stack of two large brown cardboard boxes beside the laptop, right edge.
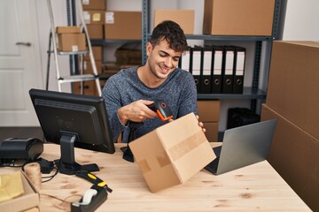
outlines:
[{"label": "stack of two large brown cardboard boxes beside the laptop, right edge", "polygon": [[278,120],[268,162],[319,210],[319,43],[274,42],[261,120]]}]

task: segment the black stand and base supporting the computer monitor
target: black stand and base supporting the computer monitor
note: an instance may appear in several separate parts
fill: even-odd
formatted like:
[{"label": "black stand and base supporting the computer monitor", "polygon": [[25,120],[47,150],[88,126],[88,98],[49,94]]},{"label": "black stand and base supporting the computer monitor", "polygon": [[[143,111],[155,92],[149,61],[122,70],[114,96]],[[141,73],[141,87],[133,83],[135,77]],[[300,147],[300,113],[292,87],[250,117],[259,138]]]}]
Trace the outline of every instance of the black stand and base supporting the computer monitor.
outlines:
[{"label": "black stand and base supporting the computer monitor", "polygon": [[77,135],[74,133],[62,133],[60,138],[61,157],[54,162],[58,165],[58,171],[62,174],[74,175],[78,170],[87,170],[89,172],[98,171],[96,163],[81,165],[74,159],[74,141]]}]

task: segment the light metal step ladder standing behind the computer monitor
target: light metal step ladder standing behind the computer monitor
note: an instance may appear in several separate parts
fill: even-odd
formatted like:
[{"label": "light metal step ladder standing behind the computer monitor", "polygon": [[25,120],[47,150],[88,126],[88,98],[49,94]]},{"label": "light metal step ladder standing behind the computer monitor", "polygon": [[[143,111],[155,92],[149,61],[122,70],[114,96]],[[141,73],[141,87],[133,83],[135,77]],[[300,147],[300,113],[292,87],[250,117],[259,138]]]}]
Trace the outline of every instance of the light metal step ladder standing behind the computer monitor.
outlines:
[{"label": "light metal step ladder standing behind the computer monitor", "polygon": [[[76,0],[75,4],[78,6],[78,13],[79,13],[79,18],[80,18],[80,26],[82,29],[82,32],[85,34],[85,40],[87,43],[87,50],[85,51],[60,51],[57,48],[57,43],[58,43],[58,36],[56,34],[56,27],[54,25],[54,17],[53,17],[53,11],[52,11],[52,5],[51,5],[51,0],[47,0],[48,4],[48,9],[49,9],[49,15],[50,15],[50,21],[51,21],[51,32],[49,36],[49,49],[48,49],[48,64],[47,64],[47,79],[46,79],[46,89],[48,89],[49,85],[49,76],[50,76],[50,61],[51,61],[51,53],[54,55],[54,62],[55,62],[55,68],[56,68],[56,73],[57,73],[57,80],[58,80],[58,92],[61,92],[61,84],[62,83],[72,83],[72,82],[83,82],[84,81],[89,81],[89,80],[95,80],[95,84],[97,87],[97,94],[101,96],[101,87],[100,87],[100,82],[98,78],[98,73],[97,73],[97,65],[95,63],[93,53],[92,53],[92,47],[91,43],[89,40],[89,33],[87,26],[84,21],[83,17],[83,8],[82,8],[82,1],[81,0]],[[74,11],[76,12],[76,11]],[[53,50],[51,50],[51,45],[53,47]],[[76,75],[69,75],[69,76],[61,76],[59,67],[58,67],[58,56],[72,56],[72,55],[78,55],[79,57],[83,58],[84,55],[89,54],[89,61],[92,66],[92,74],[82,74],[82,68],[80,68],[80,73]],[[81,65],[82,66],[82,65]],[[83,85],[81,87],[81,91],[83,93]]]}]

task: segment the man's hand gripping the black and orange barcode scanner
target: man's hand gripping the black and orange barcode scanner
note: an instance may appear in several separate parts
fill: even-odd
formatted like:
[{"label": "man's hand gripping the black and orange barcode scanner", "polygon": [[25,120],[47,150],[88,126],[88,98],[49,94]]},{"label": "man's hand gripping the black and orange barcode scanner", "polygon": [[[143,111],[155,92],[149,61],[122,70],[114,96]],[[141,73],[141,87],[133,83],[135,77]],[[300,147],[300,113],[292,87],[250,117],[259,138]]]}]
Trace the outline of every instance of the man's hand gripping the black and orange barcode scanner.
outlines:
[{"label": "man's hand gripping the black and orange barcode scanner", "polygon": [[121,107],[121,109],[118,110],[118,116],[121,123],[126,125],[128,120],[143,122],[148,118],[158,117],[156,112],[147,107],[147,105],[152,103],[153,101],[137,100],[136,102],[131,102],[130,104]]}]

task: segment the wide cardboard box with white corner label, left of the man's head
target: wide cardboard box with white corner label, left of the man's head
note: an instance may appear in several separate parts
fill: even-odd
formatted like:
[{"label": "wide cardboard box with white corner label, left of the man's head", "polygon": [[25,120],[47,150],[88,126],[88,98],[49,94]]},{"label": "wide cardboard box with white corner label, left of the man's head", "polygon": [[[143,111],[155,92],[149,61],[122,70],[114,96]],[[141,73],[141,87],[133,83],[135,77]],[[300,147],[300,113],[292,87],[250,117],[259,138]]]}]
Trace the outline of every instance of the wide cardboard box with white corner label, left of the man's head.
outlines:
[{"label": "wide cardboard box with white corner label, left of the man's head", "polygon": [[105,39],[141,40],[142,11],[106,11]]}]

